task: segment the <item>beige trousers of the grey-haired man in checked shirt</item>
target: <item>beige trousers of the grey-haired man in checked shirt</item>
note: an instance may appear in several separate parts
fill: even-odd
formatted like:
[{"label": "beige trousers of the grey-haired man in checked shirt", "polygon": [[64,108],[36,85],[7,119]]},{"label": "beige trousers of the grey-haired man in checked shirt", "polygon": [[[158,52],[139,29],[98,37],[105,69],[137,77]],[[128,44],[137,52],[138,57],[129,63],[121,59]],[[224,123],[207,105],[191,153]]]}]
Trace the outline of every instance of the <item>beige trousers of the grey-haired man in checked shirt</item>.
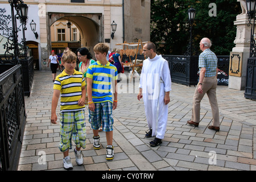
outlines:
[{"label": "beige trousers of the grey-haired man in checked shirt", "polygon": [[205,93],[209,98],[210,107],[212,107],[212,118],[213,118],[213,125],[219,127],[220,126],[220,115],[218,112],[218,102],[216,97],[216,88],[217,88],[217,78],[216,76],[213,77],[204,77],[202,83],[202,90],[203,93],[199,93],[197,91],[198,86],[196,87],[194,96],[193,96],[193,107],[192,107],[192,117],[191,120],[193,122],[199,123],[200,122],[200,102],[203,99]]}]

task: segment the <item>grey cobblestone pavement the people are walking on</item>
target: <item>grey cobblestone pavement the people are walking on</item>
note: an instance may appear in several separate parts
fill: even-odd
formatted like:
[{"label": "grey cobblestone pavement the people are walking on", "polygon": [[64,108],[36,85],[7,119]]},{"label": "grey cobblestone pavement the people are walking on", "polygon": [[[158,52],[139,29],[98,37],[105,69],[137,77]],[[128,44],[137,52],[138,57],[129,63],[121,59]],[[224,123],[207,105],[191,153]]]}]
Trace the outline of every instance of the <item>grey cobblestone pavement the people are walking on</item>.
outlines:
[{"label": "grey cobblestone pavement the people are walking on", "polygon": [[[73,171],[256,170],[256,101],[245,99],[244,91],[217,87],[221,126],[215,132],[207,128],[212,122],[207,96],[201,102],[199,127],[189,126],[195,86],[172,83],[166,135],[160,146],[150,147],[154,138],[144,138],[148,128],[143,101],[137,100],[138,82],[139,78],[125,73],[118,84],[118,107],[113,110],[114,159],[105,159],[104,132],[100,133],[101,149],[93,149],[87,120],[84,164],[77,166],[73,151],[69,152]],[[31,96],[25,97],[27,123],[18,170],[65,170],[58,148],[59,125],[50,122],[52,86],[51,72],[35,71]]]}]

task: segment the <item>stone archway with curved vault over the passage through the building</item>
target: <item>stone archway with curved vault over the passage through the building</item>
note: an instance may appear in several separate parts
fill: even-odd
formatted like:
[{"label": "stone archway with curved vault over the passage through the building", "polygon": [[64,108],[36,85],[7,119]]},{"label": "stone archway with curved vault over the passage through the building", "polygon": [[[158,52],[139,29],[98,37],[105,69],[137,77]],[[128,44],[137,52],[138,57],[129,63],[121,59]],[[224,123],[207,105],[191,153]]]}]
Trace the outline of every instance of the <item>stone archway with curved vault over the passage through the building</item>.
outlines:
[{"label": "stone archway with curved vault over the passage through the building", "polygon": [[[104,40],[102,14],[67,14],[48,13],[48,45],[51,45],[51,25],[57,20],[64,19],[74,23],[79,28],[81,47],[87,47],[92,52],[93,47]],[[48,47],[51,50],[51,47]]]}]

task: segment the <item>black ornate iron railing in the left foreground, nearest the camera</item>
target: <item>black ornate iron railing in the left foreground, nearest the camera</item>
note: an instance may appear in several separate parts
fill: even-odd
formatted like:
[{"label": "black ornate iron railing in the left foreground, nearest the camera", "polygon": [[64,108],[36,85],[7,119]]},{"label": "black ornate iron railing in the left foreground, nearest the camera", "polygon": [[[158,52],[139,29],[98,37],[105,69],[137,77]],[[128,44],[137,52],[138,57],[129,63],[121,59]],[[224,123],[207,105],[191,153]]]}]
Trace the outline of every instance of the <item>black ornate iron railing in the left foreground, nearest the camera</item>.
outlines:
[{"label": "black ornate iron railing in the left foreground, nearest the camera", "polygon": [[0,74],[0,171],[16,170],[26,123],[22,66],[1,65]]}]

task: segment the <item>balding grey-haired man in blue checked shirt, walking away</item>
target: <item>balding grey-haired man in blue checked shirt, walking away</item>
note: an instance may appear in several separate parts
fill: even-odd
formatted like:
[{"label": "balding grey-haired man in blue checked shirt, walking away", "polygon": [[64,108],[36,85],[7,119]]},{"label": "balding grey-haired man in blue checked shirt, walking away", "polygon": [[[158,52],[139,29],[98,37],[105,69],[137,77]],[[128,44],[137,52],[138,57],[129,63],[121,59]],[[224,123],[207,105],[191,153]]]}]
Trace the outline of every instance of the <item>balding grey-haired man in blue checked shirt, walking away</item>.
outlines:
[{"label": "balding grey-haired man in blue checked shirt, walking away", "polygon": [[213,125],[208,129],[219,131],[220,130],[220,116],[218,111],[218,102],[216,97],[217,88],[217,56],[210,51],[212,43],[208,38],[203,38],[200,42],[200,49],[203,51],[199,56],[199,83],[197,84],[194,96],[192,117],[188,121],[189,125],[199,126],[200,122],[200,102],[207,93],[209,98],[210,107],[212,107]]}]

